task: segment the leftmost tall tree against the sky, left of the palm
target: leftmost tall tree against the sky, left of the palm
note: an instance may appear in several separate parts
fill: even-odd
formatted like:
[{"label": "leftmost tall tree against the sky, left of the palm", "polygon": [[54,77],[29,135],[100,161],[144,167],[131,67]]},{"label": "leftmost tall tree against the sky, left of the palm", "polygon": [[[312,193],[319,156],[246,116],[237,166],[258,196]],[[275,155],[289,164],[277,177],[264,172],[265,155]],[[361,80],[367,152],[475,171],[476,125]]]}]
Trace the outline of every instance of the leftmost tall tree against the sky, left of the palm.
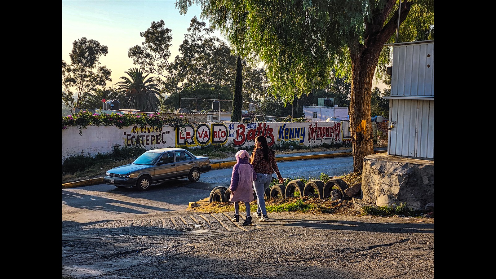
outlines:
[{"label": "leftmost tall tree against the sky, left of the palm", "polygon": [[85,93],[96,90],[97,86],[104,87],[107,81],[112,81],[112,71],[105,66],[98,66],[101,64],[101,56],[107,56],[108,52],[107,46],[85,37],[72,43],[72,51],[69,54],[71,63],[62,60],[62,102],[69,106],[71,111],[80,107]]}]

